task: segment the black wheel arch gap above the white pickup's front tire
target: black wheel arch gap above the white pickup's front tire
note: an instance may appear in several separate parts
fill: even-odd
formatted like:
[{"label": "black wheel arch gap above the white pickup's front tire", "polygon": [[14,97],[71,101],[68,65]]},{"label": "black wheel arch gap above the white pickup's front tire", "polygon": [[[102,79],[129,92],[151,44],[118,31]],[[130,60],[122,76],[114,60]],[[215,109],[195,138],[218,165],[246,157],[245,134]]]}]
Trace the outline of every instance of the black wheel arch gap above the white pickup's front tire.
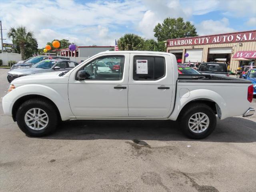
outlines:
[{"label": "black wheel arch gap above the white pickup's front tire", "polygon": [[16,114],[17,114],[17,111],[18,111],[18,108],[27,100],[30,100],[30,99],[43,99],[43,100],[46,100],[47,102],[49,102],[50,104],[52,104],[52,106],[54,106],[54,108],[56,109],[56,112],[57,112],[57,116],[58,116],[58,119],[61,120],[61,116],[60,116],[60,110],[58,109],[58,107],[56,106],[56,104],[50,100],[49,98],[45,97],[45,96],[42,96],[42,95],[38,95],[38,94],[29,94],[29,95],[25,95],[25,96],[22,96],[20,98],[18,98],[13,106],[12,106],[12,118],[14,120],[14,122],[16,121]]}]

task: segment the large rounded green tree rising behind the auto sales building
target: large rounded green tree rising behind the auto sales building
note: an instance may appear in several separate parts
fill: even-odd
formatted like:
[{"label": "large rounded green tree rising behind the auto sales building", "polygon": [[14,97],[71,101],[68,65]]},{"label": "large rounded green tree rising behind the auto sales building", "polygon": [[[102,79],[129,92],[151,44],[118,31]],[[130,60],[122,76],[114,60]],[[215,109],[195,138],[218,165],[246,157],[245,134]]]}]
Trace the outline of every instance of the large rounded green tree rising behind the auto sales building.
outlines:
[{"label": "large rounded green tree rising behind the auto sales building", "polygon": [[196,28],[189,21],[184,22],[183,18],[166,18],[162,24],[158,23],[154,28],[154,36],[157,40],[194,37],[197,36]]}]

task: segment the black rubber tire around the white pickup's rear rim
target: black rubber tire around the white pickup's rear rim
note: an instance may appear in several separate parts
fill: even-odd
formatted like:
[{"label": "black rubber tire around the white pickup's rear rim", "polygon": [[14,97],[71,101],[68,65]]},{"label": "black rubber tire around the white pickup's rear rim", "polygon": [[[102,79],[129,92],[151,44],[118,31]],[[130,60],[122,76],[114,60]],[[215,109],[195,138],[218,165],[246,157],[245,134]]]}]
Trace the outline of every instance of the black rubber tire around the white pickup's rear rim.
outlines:
[{"label": "black rubber tire around the white pickup's rear rim", "polygon": [[[190,117],[198,112],[206,114],[209,118],[208,128],[206,128],[206,130],[201,133],[192,132],[188,126]],[[216,115],[212,108],[204,103],[193,103],[186,106],[184,109],[182,109],[182,113],[180,114],[178,121],[182,127],[182,132],[188,136],[188,138],[192,139],[206,138],[213,132],[214,128],[216,127]]]}]

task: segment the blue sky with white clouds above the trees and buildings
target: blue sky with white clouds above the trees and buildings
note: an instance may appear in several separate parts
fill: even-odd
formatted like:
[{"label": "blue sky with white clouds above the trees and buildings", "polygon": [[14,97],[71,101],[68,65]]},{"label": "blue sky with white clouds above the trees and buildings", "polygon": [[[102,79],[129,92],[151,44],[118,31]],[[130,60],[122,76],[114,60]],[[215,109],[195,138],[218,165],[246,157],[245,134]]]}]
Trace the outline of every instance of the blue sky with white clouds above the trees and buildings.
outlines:
[{"label": "blue sky with white clouds above the trees and buildings", "polygon": [[198,35],[255,30],[256,0],[0,0],[3,38],[26,26],[38,48],[62,38],[114,46],[126,33],[156,39],[153,29],[167,17],[192,22]]}]

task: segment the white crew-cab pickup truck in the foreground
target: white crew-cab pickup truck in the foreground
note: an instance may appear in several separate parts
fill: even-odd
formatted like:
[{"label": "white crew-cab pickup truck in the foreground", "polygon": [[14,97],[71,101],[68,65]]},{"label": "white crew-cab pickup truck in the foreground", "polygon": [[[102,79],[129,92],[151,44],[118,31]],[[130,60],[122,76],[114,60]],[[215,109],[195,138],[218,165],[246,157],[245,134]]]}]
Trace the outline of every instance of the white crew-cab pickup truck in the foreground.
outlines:
[{"label": "white crew-cab pickup truck in the foreground", "polygon": [[[104,72],[97,63],[120,67]],[[178,120],[186,136],[200,139],[214,130],[216,116],[254,114],[252,98],[248,80],[178,75],[170,53],[107,51],[69,72],[13,80],[2,105],[30,136],[53,132],[60,120]]]}]

